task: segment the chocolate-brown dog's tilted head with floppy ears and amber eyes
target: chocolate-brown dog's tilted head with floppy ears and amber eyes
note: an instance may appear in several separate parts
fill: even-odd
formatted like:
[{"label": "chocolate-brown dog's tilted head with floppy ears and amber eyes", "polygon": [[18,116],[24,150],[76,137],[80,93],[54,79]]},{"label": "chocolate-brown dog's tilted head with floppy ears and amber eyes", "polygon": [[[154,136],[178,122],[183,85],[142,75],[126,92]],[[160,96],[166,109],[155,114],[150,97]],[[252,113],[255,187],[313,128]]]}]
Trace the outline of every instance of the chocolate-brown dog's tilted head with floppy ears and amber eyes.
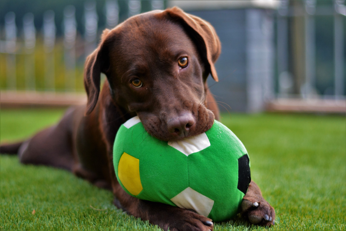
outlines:
[{"label": "chocolate-brown dog's tilted head with floppy ears and amber eyes", "polygon": [[103,72],[113,101],[136,112],[149,134],[174,140],[205,132],[214,121],[205,82],[209,74],[218,81],[220,47],[208,22],[176,7],[106,29],[85,64],[86,114],[97,103]]}]

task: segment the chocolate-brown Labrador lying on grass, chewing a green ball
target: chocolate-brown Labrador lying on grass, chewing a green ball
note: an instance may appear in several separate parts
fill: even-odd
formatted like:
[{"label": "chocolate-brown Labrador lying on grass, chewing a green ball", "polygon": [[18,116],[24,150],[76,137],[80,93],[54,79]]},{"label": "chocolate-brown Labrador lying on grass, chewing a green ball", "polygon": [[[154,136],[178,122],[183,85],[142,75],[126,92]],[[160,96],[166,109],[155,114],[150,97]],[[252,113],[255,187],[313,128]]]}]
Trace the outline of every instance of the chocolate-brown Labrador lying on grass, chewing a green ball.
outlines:
[{"label": "chocolate-brown Labrador lying on grass, chewing a green ball", "polygon": [[[207,131],[219,118],[206,85],[209,74],[218,80],[219,54],[213,27],[179,8],[131,17],[104,30],[86,60],[86,107],[70,108],[57,125],[25,142],[2,145],[1,152],[18,152],[22,163],[65,168],[109,188],[116,206],[164,230],[212,230],[210,219],[191,210],[128,195],[115,176],[112,146],[119,126],[135,115],[161,140]],[[100,92],[101,72],[107,79]],[[274,209],[253,181],[241,212],[251,223],[274,224]]]}]

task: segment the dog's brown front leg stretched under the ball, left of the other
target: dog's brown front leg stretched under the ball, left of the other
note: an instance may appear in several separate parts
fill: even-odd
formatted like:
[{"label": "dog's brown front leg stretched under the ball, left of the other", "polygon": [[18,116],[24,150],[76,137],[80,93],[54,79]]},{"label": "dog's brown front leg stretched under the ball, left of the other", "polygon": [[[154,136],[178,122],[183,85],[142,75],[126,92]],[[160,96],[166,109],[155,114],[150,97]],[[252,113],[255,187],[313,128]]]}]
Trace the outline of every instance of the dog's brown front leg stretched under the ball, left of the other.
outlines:
[{"label": "dog's brown front leg stretched under the ball, left of the other", "polygon": [[114,204],[127,213],[148,220],[163,230],[208,231],[213,230],[211,219],[193,211],[158,202],[144,201],[128,195],[116,185]]}]

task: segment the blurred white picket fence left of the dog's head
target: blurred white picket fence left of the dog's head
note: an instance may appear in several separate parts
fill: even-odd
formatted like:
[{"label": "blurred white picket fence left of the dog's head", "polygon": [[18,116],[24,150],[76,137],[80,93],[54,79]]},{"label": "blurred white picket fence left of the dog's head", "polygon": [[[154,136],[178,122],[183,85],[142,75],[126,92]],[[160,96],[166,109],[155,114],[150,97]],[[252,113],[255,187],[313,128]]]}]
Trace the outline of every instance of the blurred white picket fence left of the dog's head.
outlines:
[{"label": "blurred white picket fence left of the dog's head", "polygon": [[[128,1],[128,17],[141,12],[141,3],[140,0]],[[152,0],[151,8],[163,9],[164,1]],[[23,26],[20,28],[21,37],[18,37],[15,13],[8,12],[4,16],[5,25],[2,30],[4,39],[0,41],[2,69],[0,70],[0,87],[2,90],[78,91],[83,89],[82,74],[78,69],[82,69],[83,60],[97,46],[100,29],[102,30],[98,28],[99,17],[106,18],[108,28],[115,27],[119,20],[119,5],[116,0],[104,1],[104,14],[98,15],[96,1],[85,1],[83,35],[78,34],[75,11],[73,5],[64,8],[63,38],[56,35],[57,25],[53,10],[47,10],[44,13],[40,32],[35,28],[34,15],[25,14],[22,19]],[[57,54],[59,45],[63,47],[63,54]],[[44,51],[42,54],[39,53],[40,48]],[[42,55],[40,59],[37,58]],[[78,60],[81,61],[78,63]],[[21,73],[18,73],[19,70]],[[56,73],[63,74],[56,76]]]}]

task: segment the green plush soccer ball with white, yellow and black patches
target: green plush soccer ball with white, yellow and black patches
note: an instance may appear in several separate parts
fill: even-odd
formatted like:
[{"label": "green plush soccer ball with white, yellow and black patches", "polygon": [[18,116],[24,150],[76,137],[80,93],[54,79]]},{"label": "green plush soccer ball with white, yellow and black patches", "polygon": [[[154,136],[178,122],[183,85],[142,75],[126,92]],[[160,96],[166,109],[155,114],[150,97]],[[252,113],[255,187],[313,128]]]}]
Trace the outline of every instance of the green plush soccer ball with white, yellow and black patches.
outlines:
[{"label": "green plush soccer ball with white, yellow and black patches", "polygon": [[128,194],[216,222],[237,214],[251,180],[243,143],[218,121],[205,133],[167,142],[149,135],[136,116],[119,128],[113,162]]}]

